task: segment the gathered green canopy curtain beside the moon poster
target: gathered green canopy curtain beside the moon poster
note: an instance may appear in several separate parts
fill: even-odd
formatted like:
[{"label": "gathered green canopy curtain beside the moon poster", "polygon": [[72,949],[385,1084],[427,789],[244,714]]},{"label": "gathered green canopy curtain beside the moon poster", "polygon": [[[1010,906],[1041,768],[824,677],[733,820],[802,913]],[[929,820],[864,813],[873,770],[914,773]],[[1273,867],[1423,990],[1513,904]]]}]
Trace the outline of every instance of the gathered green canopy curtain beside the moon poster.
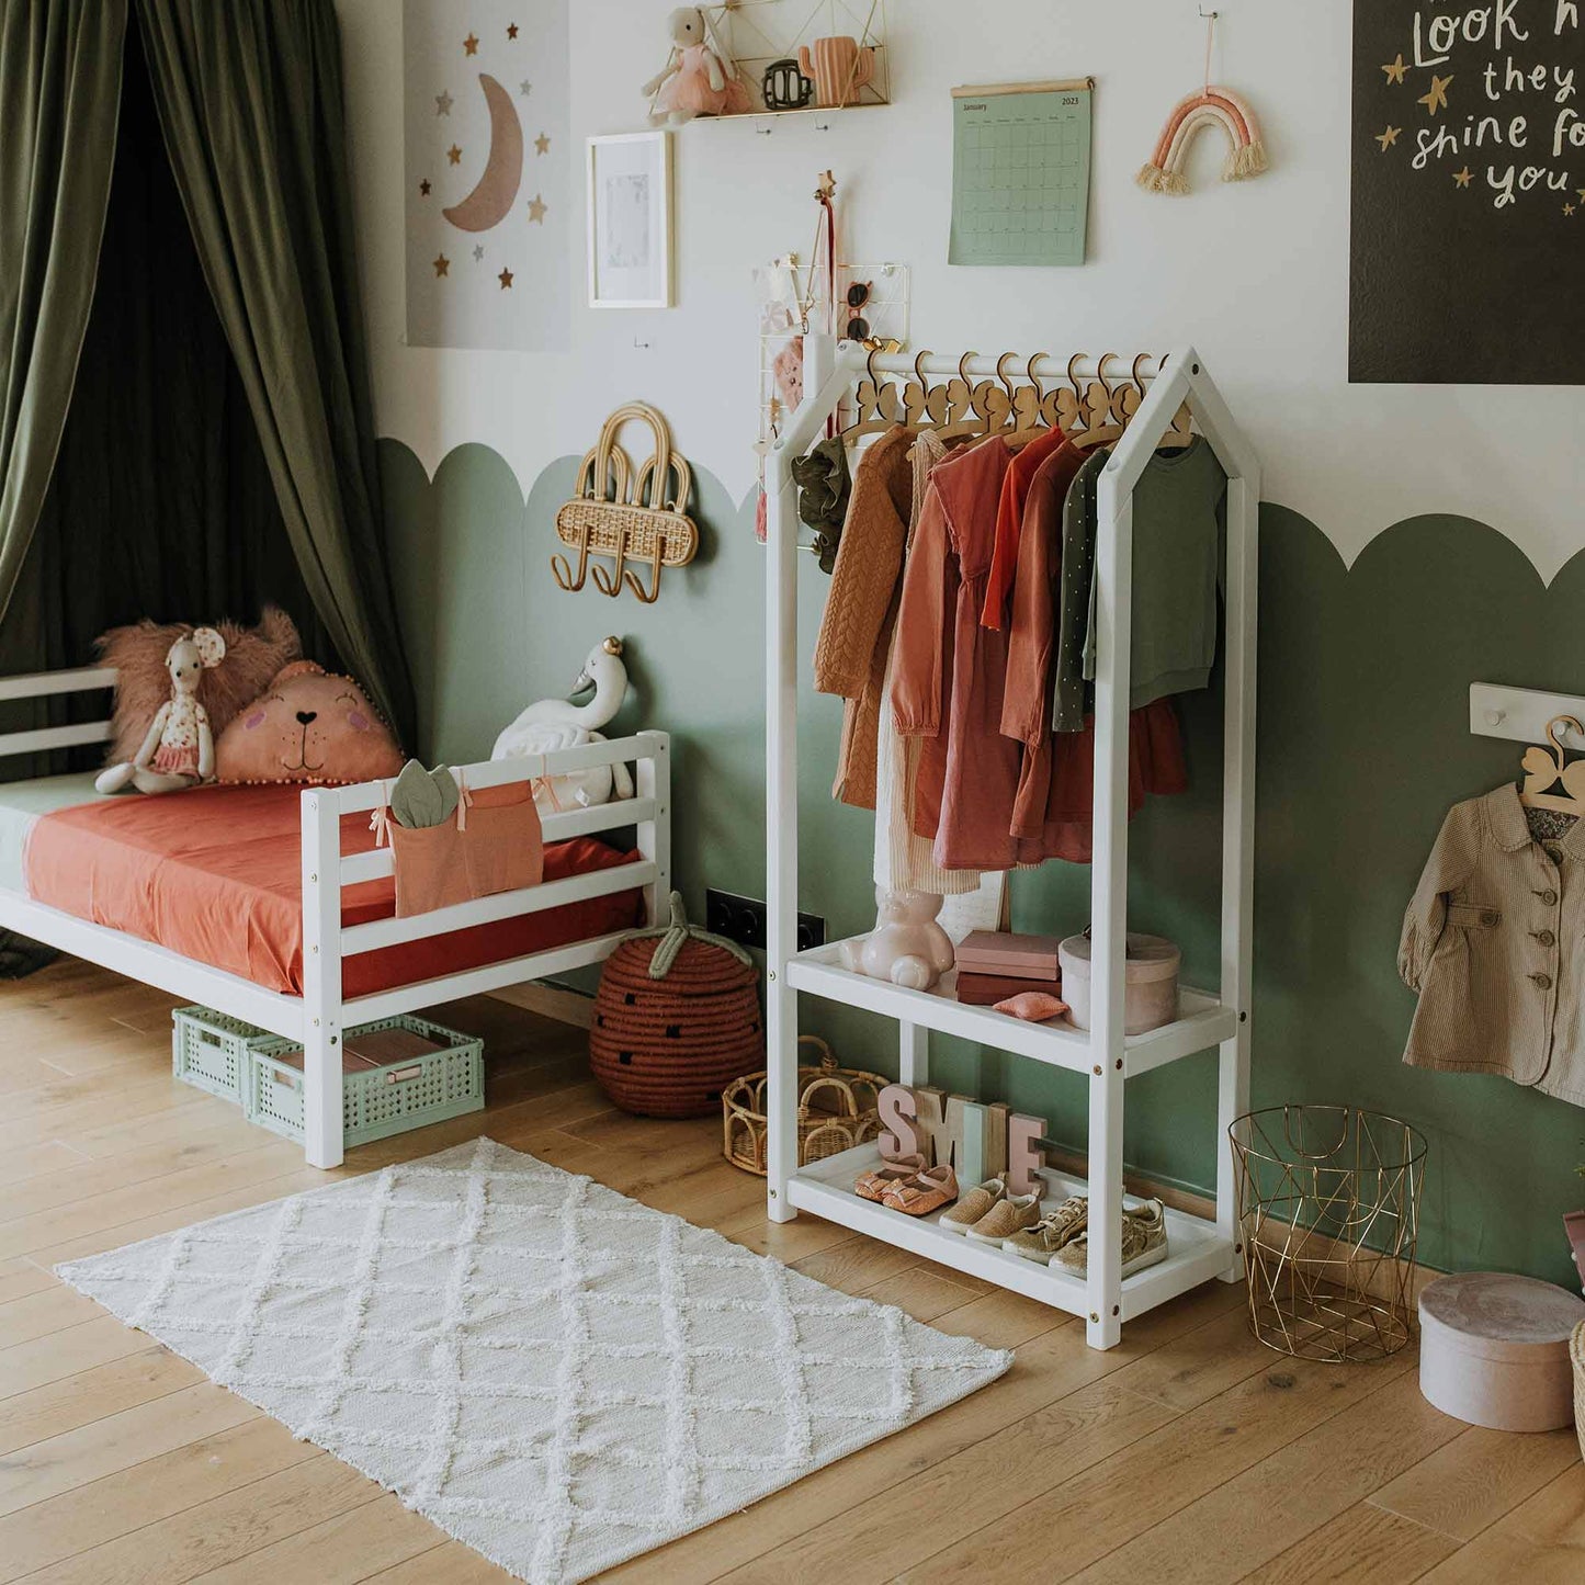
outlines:
[{"label": "gathered green canopy curtain beside the moon poster", "polygon": [[[10,3],[10,0],[6,0]],[[331,0],[136,0],[187,220],[303,580],[412,742],[380,528]]]}]

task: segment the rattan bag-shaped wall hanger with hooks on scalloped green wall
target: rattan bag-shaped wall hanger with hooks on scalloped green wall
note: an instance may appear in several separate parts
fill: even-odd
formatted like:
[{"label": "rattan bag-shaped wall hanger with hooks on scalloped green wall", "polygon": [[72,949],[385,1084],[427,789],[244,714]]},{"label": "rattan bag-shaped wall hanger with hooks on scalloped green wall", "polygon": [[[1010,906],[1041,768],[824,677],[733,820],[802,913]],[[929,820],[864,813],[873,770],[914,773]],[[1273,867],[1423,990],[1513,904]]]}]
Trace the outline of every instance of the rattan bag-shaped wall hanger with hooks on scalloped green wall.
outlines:
[{"label": "rattan bag-shaped wall hanger with hooks on scalloped green wall", "polygon": [[[617,444],[629,418],[647,423],[655,436],[655,450],[637,472]],[[563,555],[550,558],[556,582],[580,590],[593,575],[602,594],[615,599],[626,585],[653,605],[661,594],[661,567],[685,567],[699,552],[699,529],[686,515],[691,488],[693,474],[672,450],[666,420],[648,403],[624,403],[579,466],[577,495],[556,512],[556,537],[577,552],[575,569]],[[591,566],[590,556],[609,556],[612,567]],[[648,563],[648,586],[629,561]]]}]

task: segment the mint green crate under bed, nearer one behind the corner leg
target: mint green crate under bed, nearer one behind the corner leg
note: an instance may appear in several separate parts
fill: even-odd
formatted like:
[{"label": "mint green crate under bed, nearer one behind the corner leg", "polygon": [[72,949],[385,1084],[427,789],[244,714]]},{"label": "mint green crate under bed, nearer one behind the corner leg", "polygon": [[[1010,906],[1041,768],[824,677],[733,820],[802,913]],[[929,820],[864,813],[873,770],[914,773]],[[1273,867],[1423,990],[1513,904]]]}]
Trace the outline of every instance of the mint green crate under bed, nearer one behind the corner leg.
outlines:
[{"label": "mint green crate under bed, nearer one behind the corner leg", "polygon": [[[358,1035],[382,1029],[407,1029],[434,1041],[441,1049],[423,1052],[387,1067],[349,1067],[342,1062],[341,1127],[342,1140],[369,1144],[393,1133],[422,1129],[430,1122],[483,1111],[485,1048],[474,1035],[463,1035],[444,1024],[403,1014],[349,1029],[342,1046]],[[249,1051],[243,1108],[249,1122],[303,1141],[303,1048],[277,1040]]]}]

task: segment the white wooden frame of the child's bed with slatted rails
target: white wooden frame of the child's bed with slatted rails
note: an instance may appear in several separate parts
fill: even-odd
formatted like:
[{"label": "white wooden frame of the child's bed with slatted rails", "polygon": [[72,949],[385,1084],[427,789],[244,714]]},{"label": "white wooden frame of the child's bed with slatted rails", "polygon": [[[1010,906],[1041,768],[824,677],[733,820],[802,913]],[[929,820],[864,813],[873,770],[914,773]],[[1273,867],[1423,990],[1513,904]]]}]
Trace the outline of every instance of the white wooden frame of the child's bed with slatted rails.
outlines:
[{"label": "white wooden frame of the child's bed with slatted rails", "polygon": [[[113,667],[36,672],[0,678],[0,701],[41,699],[52,694],[90,693],[113,688]],[[0,756],[40,753],[79,743],[109,742],[109,721],[38,728],[0,734]],[[666,916],[670,894],[670,739],[666,732],[639,732],[605,743],[588,743],[552,754],[525,759],[485,761],[460,767],[468,785],[504,786],[545,775],[564,775],[594,766],[634,764],[634,797],[593,808],[547,815],[545,842],[637,827],[637,864],[572,875],[521,891],[498,892],[450,908],[409,919],[377,919],[371,924],[341,924],[341,891],[357,881],[391,873],[388,848],[342,854],[341,816],[372,812],[384,800],[379,783],[347,788],[304,788],[303,791],[303,995],[282,995],[238,975],[182,957],[152,941],[90,924],[57,908],[46,908],[17,891],[0,888],[0,926],[21,930],[63,953],[100,964],[130,980],[158,986],[171,995],[187,997],[244,1022],[257,1024],[287,1040],[301,1041],[304,1067],[304,1140],[311,1167],[339,1167],[341,1138],[341,1033],[372,1019],[412,1013],[450,1002],[455,997],[499,991],[526,980],[544,980],[585,964],[604,961],[621,941],[623,932],[569,941],[544,953],[487,964],[461,973],[439,975],[412,984],[379,991],[374,995],[344,999],[341,965],[347,957],[372,953],[401,941],[418,941],[472,924],[490,924],[517,915],[540,913],[588,897],[642,888],[651,924]]]}]

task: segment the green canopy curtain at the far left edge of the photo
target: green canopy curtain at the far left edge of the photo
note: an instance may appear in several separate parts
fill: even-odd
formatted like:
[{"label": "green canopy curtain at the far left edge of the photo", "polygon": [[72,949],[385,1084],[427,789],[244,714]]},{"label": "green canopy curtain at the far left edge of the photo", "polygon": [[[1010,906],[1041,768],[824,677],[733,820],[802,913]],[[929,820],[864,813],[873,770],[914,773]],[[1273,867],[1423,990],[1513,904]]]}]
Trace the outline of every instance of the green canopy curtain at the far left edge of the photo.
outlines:
[{"label": "green canopy curtain at the far left edge of the photo", "polygon": [[125,29],[125,0],[0,0],[0,615],[94,301]]}]

